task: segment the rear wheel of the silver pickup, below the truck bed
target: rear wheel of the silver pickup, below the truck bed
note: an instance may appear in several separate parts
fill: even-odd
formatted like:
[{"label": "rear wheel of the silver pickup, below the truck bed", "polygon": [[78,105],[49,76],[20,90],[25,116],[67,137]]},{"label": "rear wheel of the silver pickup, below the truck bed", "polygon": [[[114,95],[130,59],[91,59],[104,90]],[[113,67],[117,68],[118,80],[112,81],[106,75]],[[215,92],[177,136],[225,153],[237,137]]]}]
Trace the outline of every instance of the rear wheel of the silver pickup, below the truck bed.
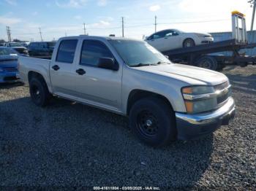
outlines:
[{"label": "rear wheel of the silver pickup, below the truck bed", "polygon": [[42,79],[42,77],[33,77],[30,80],[29,93],[31,100],[37,106],[44,107],[50,101],[51,94],[49,93],[45,80]]}]

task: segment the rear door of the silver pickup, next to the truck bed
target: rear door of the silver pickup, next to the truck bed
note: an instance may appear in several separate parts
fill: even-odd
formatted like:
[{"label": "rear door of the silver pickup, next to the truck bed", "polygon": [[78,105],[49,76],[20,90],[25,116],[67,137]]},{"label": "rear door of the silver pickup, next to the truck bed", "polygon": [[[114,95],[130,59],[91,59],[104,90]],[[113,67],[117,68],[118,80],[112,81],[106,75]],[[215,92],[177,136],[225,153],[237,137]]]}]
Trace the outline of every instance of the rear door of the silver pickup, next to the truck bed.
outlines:
[{"label": "rear door of the silver pickup, next to the truck bed", "polygon": [[50,81],[53,93],[67,97],[74,95],[75,53],[78,39],[64,39],[60,42],[56,58],[50,63]]}]

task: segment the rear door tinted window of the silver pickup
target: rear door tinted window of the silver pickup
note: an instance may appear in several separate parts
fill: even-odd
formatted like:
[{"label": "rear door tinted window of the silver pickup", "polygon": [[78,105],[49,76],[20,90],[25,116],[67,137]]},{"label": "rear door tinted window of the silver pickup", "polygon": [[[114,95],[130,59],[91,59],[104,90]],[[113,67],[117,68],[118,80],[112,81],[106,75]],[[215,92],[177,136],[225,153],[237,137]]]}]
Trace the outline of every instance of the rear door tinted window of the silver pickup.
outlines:
[{"label": "rear door tinted window of the silver pickup", "polygon": [[63,40],[59,45],[56,61],[63,63],[73,63],[75,56],[75,48],[77,47],[78,40]]}]

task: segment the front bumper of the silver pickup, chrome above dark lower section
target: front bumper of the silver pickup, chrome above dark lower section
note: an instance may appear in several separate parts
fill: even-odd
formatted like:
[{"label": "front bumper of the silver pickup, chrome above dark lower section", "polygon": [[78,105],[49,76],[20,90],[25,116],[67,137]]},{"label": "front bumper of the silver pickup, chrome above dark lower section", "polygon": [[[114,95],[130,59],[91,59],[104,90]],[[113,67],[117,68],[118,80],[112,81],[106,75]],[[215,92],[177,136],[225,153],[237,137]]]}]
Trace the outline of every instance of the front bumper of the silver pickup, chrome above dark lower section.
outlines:
[{"label": "front bumper of the silver pickup, chrome above dark lower section", "polygon": [[229,98],[227,103],[214,112],[201,114],[183,114],[176,112],[178,139],[194,139],[197,136],[212,133],[221,125],[228,125],[236,112],[235,101]]}]

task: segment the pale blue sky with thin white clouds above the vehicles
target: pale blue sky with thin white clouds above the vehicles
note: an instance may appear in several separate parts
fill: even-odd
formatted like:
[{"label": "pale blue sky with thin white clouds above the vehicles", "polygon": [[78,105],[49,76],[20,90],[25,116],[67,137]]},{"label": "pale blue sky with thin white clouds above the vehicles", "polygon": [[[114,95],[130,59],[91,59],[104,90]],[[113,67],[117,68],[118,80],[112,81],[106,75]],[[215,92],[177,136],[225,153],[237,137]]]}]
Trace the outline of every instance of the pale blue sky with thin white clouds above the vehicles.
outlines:
[{"label": "pale blue sky with thin white clouds above the vehicles", "polygon": [[0,39],[37,41],[39,27],[44,40],[83,34],[83,23],[89,35],[121,36],[142,39],[157,30],[178,28],[183,31],[231,31],[234,9],[246,14],[247,28],[252,8],[247,0],[0,0]]}]

